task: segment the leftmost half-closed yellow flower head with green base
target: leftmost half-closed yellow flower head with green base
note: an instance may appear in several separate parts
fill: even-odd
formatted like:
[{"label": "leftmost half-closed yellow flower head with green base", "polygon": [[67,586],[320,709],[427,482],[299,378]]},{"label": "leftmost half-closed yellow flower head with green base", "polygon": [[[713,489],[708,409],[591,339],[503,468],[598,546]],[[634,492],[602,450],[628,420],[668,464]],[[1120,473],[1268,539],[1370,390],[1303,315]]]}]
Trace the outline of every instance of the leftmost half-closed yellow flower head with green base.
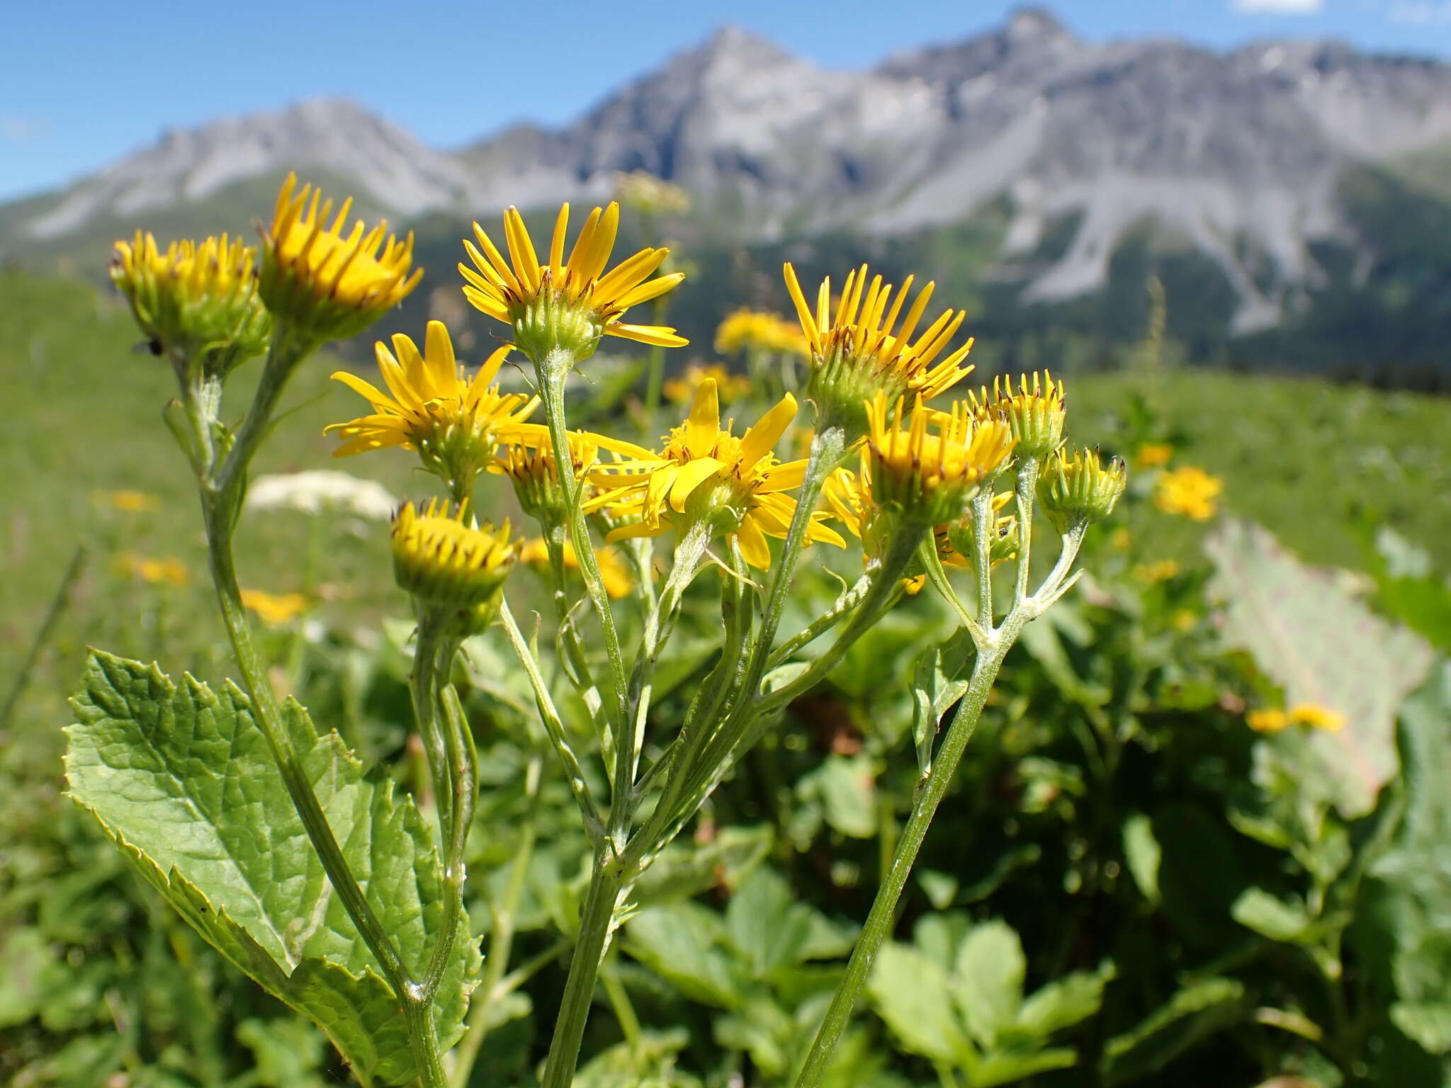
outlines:
[{"label": "leftmost half-closed yellow flower head with green base", "polygon": [[271,321],[257,297],[257,251],[231,239],[171,242],[165,252],[151,234],[116,242],[116,284],[158,355],[186,366],[200,358],[223,377],[267,348]]}]

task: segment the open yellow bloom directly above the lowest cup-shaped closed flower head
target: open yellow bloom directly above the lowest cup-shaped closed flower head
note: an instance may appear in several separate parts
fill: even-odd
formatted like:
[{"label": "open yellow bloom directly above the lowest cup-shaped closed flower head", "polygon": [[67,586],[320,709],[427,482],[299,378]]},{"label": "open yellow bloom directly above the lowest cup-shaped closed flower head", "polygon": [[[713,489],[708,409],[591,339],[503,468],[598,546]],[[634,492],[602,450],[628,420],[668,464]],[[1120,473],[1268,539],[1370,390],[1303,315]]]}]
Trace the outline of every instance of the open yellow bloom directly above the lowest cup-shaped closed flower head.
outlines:
[{"label": "open yellow bloom directly above the lowest cup-shaped closed flower head", "polygon": [[501,393],[495,383],[508,354],[509,345],[499,348],[470,379],[441,321],[428,322],[421,354],[402,334],[393,337],[392,351],[379,341],[377,366],[392,396],[345,370],[332,374],[373,405],[371,415],[325,428],[344,440],[332,456],[400,445],[416,451],[424,467],[450,487],[467,487],[489,466],[499,442],[546,440],[543,426],[525,422],[538,397]]}]

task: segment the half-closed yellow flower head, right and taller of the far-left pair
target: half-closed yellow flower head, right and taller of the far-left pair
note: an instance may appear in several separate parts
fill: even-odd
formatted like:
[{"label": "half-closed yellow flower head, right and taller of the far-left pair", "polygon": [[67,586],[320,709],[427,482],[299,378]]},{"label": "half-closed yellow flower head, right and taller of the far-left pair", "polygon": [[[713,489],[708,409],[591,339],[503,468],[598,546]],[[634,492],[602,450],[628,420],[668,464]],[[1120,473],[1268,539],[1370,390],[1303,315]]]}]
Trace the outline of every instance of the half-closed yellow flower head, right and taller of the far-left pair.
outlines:
[{"label": "half-closed yellow flower head, right and taller of the far-left pair", "polygon": [[287,174],[263,232],[261,297],[274,318],[311,339],[355,337],[424,276],[414,268],[412,232],[399,241],[387,221],[367,231],[360,219],[344,235],[351,209],[348,197],[328,226],[332,200],[311,184],[299,190],[297,176]]}]

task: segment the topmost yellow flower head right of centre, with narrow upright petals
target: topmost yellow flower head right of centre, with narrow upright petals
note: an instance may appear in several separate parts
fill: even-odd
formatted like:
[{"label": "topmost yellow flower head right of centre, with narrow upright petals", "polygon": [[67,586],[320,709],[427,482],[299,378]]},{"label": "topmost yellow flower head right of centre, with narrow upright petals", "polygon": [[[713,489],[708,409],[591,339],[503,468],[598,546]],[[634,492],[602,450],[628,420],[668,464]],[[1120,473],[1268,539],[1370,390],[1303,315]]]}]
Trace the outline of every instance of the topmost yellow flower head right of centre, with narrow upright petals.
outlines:
[{"label": "topmost yellow flower head right of centre, with narrow upright petals", "polygon": [[966,316],[962,310],[945,310],[917,332],[932,302],[933,283],[905,308],[913,277],[907,277],[894,299],[892,286],[882,286],[881,276],[868,284],[868,267],[863,264],[847,274],[833,313],[830,277],[817,290],[815,312],[807,305],[789,263],[785,277],[810,348],[807,396],[815,402],[820,426],[846,426],[849,437],[859,437],[866,429],[865,405],[875,396],[884,396],[888,409],[904,396],[930,400],[972,370],[962,366],[972,348],[971,338],[937,361],[962,326]]}]

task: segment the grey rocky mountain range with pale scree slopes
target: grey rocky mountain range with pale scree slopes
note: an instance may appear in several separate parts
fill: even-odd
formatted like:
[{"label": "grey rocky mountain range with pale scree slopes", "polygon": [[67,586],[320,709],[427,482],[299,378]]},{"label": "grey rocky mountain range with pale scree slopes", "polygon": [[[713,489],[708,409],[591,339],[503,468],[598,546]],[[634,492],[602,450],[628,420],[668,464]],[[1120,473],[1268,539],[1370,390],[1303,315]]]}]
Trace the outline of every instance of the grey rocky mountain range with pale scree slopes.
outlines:
[{"label": "grey rocky mountain range with pale scree slopes", "polygon": [[58,239],[290,167],[351,180],[405,219],[492,216],[608,196],[618,171],[646,170],[746,241],[895,238],[997,209],[994,276],[1016,277],[1026,303],[1098,292],[1125,239],[1151,231],[1207,258],[1233,293],[1232,329],[1254,332],[1328,283],[1320,247],[1373,258],[1348,171],[1448,145],[1448,64],[1313,41],[1094,44],[1027,9],[865,73],[726,28],[573,125],[521,125],[459,152],[350,103],[308,102],[168,133],[6,222],[12,239]]}]

